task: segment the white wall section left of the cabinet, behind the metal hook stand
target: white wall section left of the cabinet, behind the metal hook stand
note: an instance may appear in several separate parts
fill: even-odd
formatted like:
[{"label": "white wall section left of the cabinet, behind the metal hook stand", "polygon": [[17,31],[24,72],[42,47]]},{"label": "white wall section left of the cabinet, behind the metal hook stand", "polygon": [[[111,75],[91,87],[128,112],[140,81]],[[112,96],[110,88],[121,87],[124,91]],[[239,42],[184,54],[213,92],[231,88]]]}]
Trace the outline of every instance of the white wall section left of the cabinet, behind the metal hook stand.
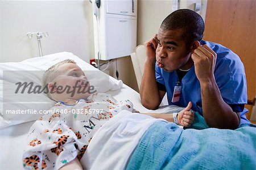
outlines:
[{"label": "white wall section left of the cabinet, behind the metal hook stand", "polygon": [[68,51],[89,61],[93,56],[92,4],[89,1],[0,1],[0,62],[39,56],[36,37],[27,32],[48,32],[41,39],[43,55]]}]

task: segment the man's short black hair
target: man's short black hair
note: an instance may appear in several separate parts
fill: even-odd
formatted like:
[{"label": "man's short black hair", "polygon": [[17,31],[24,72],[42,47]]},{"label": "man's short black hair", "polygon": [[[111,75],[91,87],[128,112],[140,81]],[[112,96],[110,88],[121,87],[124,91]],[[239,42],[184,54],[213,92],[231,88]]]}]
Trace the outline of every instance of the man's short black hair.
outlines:
[{"label": "man's short black hair", "polygon": [[204,34],[204,20],[195,11],[189,9],[176,10],[163,20],[160,28],[167,30],[183,30],[183,40],[191,44],[195,40],[202,40]]}]

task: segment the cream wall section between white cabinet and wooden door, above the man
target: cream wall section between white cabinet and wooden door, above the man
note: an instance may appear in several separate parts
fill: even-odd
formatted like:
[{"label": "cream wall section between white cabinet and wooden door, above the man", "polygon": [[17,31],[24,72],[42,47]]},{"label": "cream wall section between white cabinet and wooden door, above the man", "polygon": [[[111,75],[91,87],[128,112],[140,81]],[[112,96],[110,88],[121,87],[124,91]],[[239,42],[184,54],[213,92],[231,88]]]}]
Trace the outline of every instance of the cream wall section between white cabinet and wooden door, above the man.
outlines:
[{"label": "cream wall section between white cabinet and wooden door, above the man", "polygon": [[[137,45],[144,44],[154,34],[158,33],[164,18],[174,11],[175,1],[138,0]],[[196,2],[201,3],[201,10],[198,13],[205,19],[207,0],[179,0],[178,2],[178,9],[191,10],[194,10]]]}]

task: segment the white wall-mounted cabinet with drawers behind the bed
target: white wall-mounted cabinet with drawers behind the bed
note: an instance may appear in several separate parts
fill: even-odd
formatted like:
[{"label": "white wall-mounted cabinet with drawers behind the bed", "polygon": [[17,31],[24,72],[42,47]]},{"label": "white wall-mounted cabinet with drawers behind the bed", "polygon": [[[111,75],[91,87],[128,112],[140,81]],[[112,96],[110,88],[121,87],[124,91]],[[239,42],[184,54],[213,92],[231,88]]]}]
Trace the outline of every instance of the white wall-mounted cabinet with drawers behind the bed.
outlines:
[{"label": "white wall-mounted cabinet with drawers behind the bed", "polygon": [[92,1],[95,59],[129,56],[137,45],[137,1]]}]

